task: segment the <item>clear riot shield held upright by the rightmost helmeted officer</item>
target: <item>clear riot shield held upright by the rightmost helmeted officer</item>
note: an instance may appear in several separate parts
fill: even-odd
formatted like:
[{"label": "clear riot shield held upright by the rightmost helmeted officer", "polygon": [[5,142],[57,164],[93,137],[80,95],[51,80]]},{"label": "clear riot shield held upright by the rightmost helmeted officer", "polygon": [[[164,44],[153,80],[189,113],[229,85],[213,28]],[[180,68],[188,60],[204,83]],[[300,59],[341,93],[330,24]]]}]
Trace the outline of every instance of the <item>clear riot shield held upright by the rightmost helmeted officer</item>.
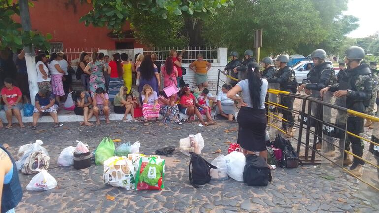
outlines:
[{"label": "clear riot shield held upright by the rightmost helmeted officer", "polygon": [[[333,92],[326,92],[323,101],[340,107],[346,107],[346,96],[333,97]],[[338,110],[330,106],[322,107],[322,159],[321,163],[337,162],[343,166],[346,135],[346,110]],[[337,151],[337,152],[336,152]],[[339,157],[336,158],[336,156]],[[340,160],[339,160],[340,159]]]}]

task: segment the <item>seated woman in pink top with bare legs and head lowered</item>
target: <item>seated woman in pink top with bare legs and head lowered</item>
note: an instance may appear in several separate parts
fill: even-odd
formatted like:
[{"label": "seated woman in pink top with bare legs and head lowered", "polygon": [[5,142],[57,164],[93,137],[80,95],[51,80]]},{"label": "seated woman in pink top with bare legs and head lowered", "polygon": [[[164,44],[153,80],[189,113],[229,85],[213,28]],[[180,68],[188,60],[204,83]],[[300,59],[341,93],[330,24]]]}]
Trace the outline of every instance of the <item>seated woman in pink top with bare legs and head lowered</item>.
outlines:
[{"label": "seated woman in pink top with bare legs and head lowered", "polygon": [[105,115],[105,123],[111,123],[109,121],[110,103],[109,96],[104,88],[99,87],[96,89],[92,104],[94,105],[94,115],[96,116],[96,125],[100,125],[100,115]]}]

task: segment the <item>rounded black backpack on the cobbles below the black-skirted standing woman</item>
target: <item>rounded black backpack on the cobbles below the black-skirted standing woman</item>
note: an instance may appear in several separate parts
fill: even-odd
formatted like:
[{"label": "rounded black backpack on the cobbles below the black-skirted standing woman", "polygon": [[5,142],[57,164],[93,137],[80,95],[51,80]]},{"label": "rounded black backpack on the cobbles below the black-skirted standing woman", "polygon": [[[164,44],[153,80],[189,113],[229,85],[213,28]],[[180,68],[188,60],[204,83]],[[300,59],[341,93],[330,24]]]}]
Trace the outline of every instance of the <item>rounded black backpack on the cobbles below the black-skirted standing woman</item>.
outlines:
[{"label": "rounded black backpack on the cobbles below the black-skirted standing woman", "polygon": [[243,173],[244,182],[249,186],[267,186],[271,182],[271,171],[263,157],[248,154]]}]

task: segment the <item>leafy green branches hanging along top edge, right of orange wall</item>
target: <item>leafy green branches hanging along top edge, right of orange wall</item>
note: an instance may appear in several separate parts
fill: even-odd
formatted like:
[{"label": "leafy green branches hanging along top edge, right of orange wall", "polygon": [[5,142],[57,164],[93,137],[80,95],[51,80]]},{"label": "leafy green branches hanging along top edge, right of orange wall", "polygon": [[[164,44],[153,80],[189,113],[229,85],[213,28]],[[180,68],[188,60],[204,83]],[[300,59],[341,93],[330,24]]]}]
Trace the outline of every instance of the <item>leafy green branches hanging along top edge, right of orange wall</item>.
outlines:
[{"label": "leafy green branches hanging along top edge, right of orange wall", "polygon": [[[136,11],[146,12],[159,19],[167,19],[171,14],[182,13],[193,16],[203,13],[217,14],[216,8],[233,4],[232,0],[93,0],[93,10],[80,21],[95,27],[107,26],[115,32],[121,31],[126,21]],[[135,25],[134,25],[135,26]]]}]

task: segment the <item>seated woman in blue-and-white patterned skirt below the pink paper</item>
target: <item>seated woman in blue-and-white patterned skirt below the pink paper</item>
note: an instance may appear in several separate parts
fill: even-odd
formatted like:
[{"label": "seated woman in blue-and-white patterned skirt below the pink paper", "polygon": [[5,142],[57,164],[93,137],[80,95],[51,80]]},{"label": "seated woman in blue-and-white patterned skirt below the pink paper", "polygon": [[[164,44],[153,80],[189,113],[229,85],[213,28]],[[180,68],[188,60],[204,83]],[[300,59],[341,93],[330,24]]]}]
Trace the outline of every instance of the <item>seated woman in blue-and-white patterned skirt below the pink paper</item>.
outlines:
[{"label": "seated woman in blue-and-white patterned skirt below the pink paper", "polygon": [[178,123],[179,122],[179,109],[176,105],[176,94],[167,97],[167,94],[162,91],[158,97],[158,104],[160,105],[160,114],[163,115],[163,123]]}]

